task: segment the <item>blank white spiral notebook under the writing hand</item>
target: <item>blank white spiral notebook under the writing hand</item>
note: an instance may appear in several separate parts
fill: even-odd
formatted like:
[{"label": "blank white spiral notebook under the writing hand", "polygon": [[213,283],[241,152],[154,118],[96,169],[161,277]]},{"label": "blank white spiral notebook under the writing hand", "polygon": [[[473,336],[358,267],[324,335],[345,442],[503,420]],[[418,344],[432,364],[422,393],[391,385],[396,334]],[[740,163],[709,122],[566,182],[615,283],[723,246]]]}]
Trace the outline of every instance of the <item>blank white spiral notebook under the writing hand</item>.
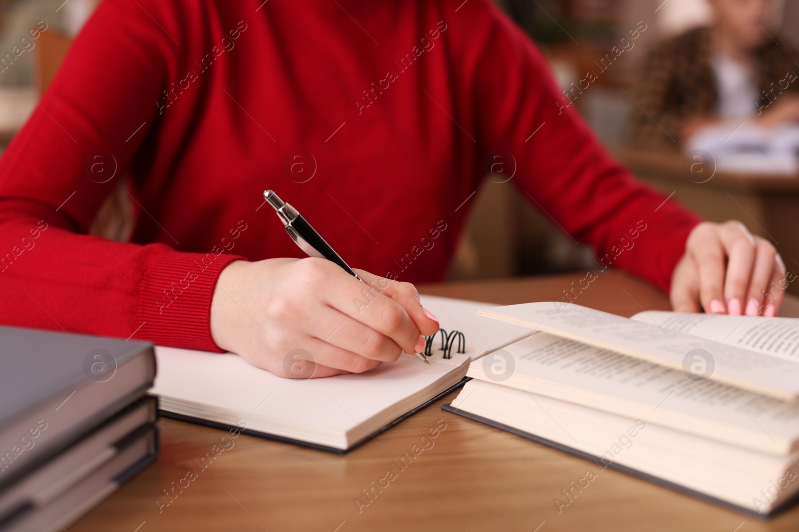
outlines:
[{"label": "blank white spiral notebook under the writing hand", "polygon": [[458,388],[470,361],[530,333],[478,317],[488,303],[423,296],[422,305],[443,329],[428,337],[430,365],[403,354],[366,373],[294,380],[233,353],[159,346],[150,392],[165,417],[343,453]]}]

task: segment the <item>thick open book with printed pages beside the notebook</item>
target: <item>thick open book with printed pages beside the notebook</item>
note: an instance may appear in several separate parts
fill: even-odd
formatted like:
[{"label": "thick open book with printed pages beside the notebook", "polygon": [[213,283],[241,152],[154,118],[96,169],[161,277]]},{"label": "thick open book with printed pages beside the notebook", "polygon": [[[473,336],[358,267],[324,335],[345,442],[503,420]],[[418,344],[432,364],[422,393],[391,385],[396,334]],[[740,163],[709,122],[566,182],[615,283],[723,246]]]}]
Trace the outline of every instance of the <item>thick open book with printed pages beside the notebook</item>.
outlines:
[{"label": "thick open book with printed pages beside the notebook", "polygon": [[533,333],[472,362],[451,412],[757,514],[799,491],[799,320],[481,314]]}]

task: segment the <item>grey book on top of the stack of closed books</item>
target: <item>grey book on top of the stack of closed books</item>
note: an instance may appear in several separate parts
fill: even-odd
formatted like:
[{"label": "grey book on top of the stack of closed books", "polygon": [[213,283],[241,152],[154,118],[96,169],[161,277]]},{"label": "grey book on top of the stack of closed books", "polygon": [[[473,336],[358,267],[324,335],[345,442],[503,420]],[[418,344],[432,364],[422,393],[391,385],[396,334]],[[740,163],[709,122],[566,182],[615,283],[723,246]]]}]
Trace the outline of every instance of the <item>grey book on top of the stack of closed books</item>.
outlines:
[{"label": "grey book on top of the stack of closed books", "polygon": [[155,371],[149,343],[0,326],[0,485],[137,402]]}]

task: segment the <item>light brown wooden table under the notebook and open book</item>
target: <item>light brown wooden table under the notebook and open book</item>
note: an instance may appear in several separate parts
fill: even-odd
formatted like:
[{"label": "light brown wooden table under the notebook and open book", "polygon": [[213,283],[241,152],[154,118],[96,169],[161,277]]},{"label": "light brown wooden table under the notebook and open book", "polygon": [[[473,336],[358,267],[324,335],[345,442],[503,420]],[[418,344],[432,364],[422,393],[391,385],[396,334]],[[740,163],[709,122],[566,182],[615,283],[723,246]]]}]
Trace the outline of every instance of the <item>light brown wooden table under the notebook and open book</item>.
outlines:
[{"label": "light brown wooden table under the notebook and open book", "polygon": [[[580,275],[420,286],[420,292],[495,303],[559,299]],[[622,290],[623,289],[623,290]],[[630,316],[668,309],[666,296],[612,271],[578,304]],[[799,300],[786,306],[799,316]],[[455,392],[457,393],[457,392]],[[194,459],[227,434],[161,420],[161,458],[70,532],[117,530],[797,530],[799,508],[770,521],[743,516],[610,469],[559,513],[553,499],[594,464],[440,409],[455,393],[403,421],[376,442],[332,455],[240,435],[159,514],[165,488],[199,469]],[[368,400],[368,397],[364,397]],[[443,420],[443,422],[439,421]],[[446,424],[369,506],[354,499],[385,476],[436,424]]]}]

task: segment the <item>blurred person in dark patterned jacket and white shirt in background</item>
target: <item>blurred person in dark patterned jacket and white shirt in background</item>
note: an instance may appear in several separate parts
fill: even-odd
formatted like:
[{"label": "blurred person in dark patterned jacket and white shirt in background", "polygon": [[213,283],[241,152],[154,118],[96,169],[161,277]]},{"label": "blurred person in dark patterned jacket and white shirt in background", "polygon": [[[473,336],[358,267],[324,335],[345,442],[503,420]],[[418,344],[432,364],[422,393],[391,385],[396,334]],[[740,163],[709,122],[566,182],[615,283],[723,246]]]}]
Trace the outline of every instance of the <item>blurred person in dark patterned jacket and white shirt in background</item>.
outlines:
[{"label": "blurred person in dark patterned jacket and white shirt in background", "polygon": [[673,147],[710,126],[799,121],[799,53],[783,0],[708,0],[714,23],[657,45],[638,76],[630,140]]}]

